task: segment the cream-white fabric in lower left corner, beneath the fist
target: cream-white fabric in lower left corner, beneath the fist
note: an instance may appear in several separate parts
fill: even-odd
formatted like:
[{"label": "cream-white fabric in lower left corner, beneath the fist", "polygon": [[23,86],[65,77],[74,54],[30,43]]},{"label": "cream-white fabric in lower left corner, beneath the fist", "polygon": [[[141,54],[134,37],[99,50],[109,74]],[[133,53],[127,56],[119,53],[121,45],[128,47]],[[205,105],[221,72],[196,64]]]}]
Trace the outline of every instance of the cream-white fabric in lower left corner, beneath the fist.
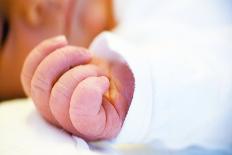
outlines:
[{"label": "cream-white fabric in lower left corner, beneath the fist", "polygon": [[82,139],[45,122],[29,99],[0,104],[0,137],[1,155],[97,155]]}]

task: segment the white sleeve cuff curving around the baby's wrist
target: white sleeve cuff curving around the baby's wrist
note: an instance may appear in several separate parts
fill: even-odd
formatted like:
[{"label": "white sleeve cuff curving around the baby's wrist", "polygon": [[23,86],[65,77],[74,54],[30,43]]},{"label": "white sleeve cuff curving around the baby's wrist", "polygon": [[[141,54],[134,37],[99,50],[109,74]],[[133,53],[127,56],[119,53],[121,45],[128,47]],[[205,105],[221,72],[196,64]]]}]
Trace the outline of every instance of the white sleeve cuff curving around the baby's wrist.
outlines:
[{"label": "white sleeve cuff curving around the baby's wrist", "polygon": [[[128,43],[117,36],[104,32],[93,41],[90,50],[108,60],[126,61],[135,78],[133,99],[116,143],[145,141],[152,117],[152,79],[145,56],[139,56]],[[142,54],[141,54],[142,55]]]}]

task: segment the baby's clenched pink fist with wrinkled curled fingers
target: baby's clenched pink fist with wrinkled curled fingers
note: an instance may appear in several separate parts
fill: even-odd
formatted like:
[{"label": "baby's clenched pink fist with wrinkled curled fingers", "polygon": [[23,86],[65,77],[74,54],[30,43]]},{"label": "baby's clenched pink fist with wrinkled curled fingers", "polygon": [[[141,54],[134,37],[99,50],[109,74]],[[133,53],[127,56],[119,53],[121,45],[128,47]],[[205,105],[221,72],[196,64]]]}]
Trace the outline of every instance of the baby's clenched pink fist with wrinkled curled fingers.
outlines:
[{"label": "baby's clenched pink fist with wrinkled curled fingers", "polygon": [[86,140],[110,139],[121,129],[134,86],[131,72],[117,70],[58,37],[31,51],[21,81],[50,123]]}]

